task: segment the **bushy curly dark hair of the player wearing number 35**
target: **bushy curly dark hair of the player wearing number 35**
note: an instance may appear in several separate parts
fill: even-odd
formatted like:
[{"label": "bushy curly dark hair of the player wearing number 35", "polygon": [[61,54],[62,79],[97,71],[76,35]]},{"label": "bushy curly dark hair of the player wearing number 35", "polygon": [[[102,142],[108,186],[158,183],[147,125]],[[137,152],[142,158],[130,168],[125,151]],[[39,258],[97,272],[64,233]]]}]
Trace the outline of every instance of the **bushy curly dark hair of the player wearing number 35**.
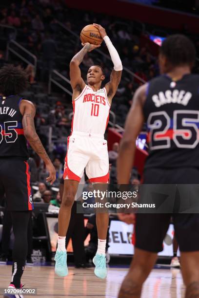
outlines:
[{"label": "bushy curly dark hair of the player wearing number 35", "polygon": [[4,96],[20,94],[28,87],[28,75],[11,64],[0,69],[0,93]]}]

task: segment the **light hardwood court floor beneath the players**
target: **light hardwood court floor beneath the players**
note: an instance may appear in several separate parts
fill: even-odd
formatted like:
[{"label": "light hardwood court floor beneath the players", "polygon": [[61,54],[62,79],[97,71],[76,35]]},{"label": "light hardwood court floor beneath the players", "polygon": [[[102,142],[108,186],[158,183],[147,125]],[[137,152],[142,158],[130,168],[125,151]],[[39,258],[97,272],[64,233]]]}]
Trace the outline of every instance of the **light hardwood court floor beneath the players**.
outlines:
[{"label": "light hardwood court floor beneath the players", "polygon": [[[94,269],[69,267],[69,275],[60,278],[53,266],[26,266],[24,288],[37,288],[37,296],[24,298],[117,298],[127,269],[108,268],[107,279],[95,277]],[[11,265],[0,265],[0,288],[9,284]],[[183,298],[184,285],[179,269],[154,269],[144,284],[142,298]],[[2,296],[1,296],[2,297]]]}]

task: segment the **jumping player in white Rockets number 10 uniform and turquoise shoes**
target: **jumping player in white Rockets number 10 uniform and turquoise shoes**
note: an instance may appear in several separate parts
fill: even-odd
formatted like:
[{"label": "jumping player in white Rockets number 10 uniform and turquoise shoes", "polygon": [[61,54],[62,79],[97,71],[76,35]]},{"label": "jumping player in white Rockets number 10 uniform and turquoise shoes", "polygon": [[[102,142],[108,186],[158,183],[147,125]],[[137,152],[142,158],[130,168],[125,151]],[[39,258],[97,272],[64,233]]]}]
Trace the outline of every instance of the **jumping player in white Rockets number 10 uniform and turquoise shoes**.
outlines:
[{"label": "jumping player in white Rockets number 10 uniform and turquoise shoes", "polygon": [[[73,119],[71,135],[68,137],[68,151],[64,166],[64,192],[59,212],[59,239],[55,256],[55,272],[59,276],[66,276],[67,253],[65,238],[68,229],[71,208],[77,193],[84,168],[92,183],[108,183],[109,160],[107,141],[104,140],[109,110],[122,73],[122,64],[118,52],[106,34],[104,28],[94,24],[99,29],[105,41],[114,64],[108,82],[104,88],[101,84],[105,79],[103,70],[98,65],[93,65],[87,73],[87,84],[81,78],[80,63],[86,53],[98,48],[90,43],[82,44],[83,48],[70,62],[70,79],[73,89]],[[96,266],[95,274],[104,279],[107,274],[105,260],[105,246],[108,229],[108,213],[97,214],[98,250],[93,262]]]}]

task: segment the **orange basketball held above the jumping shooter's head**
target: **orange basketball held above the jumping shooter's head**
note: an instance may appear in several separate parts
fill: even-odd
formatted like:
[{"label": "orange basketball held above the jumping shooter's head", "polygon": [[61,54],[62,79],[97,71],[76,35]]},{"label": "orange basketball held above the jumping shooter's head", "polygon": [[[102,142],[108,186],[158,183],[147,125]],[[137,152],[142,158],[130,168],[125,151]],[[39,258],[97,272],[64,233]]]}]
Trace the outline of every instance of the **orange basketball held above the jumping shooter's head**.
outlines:
[{"label": "orange basketball held above the jumping shooter's head", "polygon": [[101,44],[103,41],[98,28],[93,25],[87,25],[81,30],[80,39],[82,43],[89,42],[95,45]]}]

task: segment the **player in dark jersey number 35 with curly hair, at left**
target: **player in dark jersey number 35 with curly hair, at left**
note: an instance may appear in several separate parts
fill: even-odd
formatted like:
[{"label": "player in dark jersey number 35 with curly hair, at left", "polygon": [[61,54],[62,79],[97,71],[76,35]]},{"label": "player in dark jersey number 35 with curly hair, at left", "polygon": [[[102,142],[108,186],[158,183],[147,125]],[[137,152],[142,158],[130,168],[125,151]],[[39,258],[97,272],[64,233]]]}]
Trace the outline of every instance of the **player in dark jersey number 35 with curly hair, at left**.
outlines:
[{"label": "player in dark jersey number 35 with curly hair, at left", "polygon": [[[15,235],[10,289],[22,286],[20,280],[28,250],[27,227],[33,209],[27,141],[46,165],[49,172],[46,181],[53,184],[56,179],[56,170],[35,130],[35,106],[18,95],[27,86],[25,71],[12,65],[0,69],[0,195],[6,195]],[[3,297],[23,296],[4,294]]]}]

